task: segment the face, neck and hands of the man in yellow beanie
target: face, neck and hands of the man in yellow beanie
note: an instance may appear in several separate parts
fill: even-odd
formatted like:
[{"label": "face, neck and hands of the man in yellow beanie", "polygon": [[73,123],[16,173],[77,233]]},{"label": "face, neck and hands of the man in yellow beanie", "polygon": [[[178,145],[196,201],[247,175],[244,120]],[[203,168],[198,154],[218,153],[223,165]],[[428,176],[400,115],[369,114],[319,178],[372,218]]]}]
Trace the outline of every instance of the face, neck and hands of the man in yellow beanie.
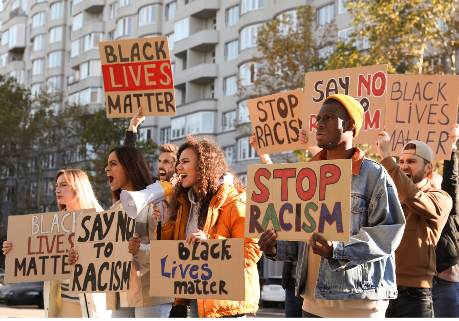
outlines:
[{"label": "face, neck and hands of the man in yellow beanie", "polygon": [[[323,105],[317,115],[317,146],[327,151],[327,159],[347,159],[354,154],[352,139],[355,129],[355,120],[349,117],[346,108],[340,104]],[[308,137],[300,132],[302,144],[306,144]],[[275,238],[277,233],[272,228],[266,230],[258,240],[260,250],[269,255],[277,254]],[[314,254],[325,259],[333,258],[333,243],[326,241],[317,233],[313,233],[308,240]]]}]

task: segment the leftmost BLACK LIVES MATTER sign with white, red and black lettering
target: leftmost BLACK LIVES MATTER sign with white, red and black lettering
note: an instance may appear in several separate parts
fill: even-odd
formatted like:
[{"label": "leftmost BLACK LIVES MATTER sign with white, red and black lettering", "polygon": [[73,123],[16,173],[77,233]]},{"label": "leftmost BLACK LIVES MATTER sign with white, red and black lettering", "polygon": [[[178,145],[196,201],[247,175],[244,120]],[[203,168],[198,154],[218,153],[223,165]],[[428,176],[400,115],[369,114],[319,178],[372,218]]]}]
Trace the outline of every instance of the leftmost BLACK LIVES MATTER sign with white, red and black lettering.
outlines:
[{"label": "leftmost BLACK LIVES MATTER sign with white, red and black lettering", "polygon": [[68,279],[66,253],[73,247],[78,214],[89,212],[95,208],[9,216],[5,282]]}]

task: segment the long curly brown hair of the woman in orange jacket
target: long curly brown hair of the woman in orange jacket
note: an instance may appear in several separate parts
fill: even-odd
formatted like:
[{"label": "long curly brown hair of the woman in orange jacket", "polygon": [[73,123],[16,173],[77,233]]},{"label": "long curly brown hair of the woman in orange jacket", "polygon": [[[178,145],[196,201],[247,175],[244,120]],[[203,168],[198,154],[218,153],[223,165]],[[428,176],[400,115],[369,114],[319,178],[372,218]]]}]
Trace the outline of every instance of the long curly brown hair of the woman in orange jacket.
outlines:
[{"label": "long curly brown hair of the woman in orange jacket", "polygon": [[[225,154],[217,142],[209,137],[203,136],[201,138],[188,135],[185,142],[180,146],[177,152],[177,159],[180,159],[181,153],[186,148],[193,148],[197,154],[197,173],[201,177],[201,186],[198,188],[196,198],[198,200],[198,228],[202,230],[207,220],[207,208],[209,207],[212,197],[217,194],[218,181],[222,179],[223,175],[227,172],[234,176],[233,185],[238,190],[244,189],[244,184],[238,179],[238,175],[226,163]],[[179,162],[175,163],[175,173],[177,173],[177,166]],[[179,182],[175,186],[172,193],[169,206],[169,218],[173,221],[177,218],[177,211],[179,210],[180,203],[178,198],[187,189]]]}]

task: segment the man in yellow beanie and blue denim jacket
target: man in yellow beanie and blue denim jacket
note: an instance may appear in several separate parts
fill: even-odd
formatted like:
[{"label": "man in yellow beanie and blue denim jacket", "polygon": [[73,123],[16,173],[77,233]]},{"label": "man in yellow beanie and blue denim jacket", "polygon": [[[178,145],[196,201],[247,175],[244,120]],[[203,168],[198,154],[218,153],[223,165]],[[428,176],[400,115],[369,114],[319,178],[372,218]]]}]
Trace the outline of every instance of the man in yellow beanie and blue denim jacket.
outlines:
[{"label": "man in yellow beanie and blue denim jacket", "polygon": [[[386,170],[352,146],[363,114],[350,96],[326,98],[315,137],[323,150],[311,159],[352,159],[350,242],[327,242],[317,233],[308,242],[276,242],[272,229],[258,242],[269,259],[297,261],[296,295],[304,298],[303,317],[384,317],[388,299],[397,296],[394,250],[405,219]],[[303,144],[305,134],[300,131]]]}]

